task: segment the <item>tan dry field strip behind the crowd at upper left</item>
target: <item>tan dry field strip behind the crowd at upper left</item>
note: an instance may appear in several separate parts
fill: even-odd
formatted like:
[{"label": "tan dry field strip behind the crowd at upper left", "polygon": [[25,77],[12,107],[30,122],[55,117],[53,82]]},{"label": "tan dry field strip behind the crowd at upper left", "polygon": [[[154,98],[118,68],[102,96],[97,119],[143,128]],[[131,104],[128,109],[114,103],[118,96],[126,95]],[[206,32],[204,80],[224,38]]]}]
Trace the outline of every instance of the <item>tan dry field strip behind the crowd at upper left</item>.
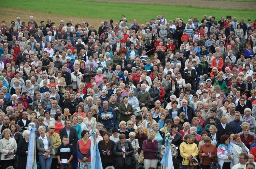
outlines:
[{"label": "tan dry field strip behind the crowd at upper left", "polygon": [[[5,20],[6,26],[10,26],[11,21],[16,22],[16,18],[18,16],[21,18],[22,21],[26,22],[27,24],[31,15],[34,17],[34,20],[37,22],[38,25],[40,25],[40,21],[42,20],[46,24],[47,19],[51,19],[52,22],[55,22],[55,25],[59,25],[60,20],[64,20],[65,24],[69,21],[69,19],[72,20],[73,24],[81,23],[82,21],[84,21],[89,23],[89,27],[91,25],[100,25],[100,23],[103,21],[102,19],[97,18],[63,16],[41,12],[27,12],[23,9],[15,10],[14,8],[1,8],[0,10],[0,16],[2,20]],[[98,27],[96,27],[95,29],[98,31]]]}]

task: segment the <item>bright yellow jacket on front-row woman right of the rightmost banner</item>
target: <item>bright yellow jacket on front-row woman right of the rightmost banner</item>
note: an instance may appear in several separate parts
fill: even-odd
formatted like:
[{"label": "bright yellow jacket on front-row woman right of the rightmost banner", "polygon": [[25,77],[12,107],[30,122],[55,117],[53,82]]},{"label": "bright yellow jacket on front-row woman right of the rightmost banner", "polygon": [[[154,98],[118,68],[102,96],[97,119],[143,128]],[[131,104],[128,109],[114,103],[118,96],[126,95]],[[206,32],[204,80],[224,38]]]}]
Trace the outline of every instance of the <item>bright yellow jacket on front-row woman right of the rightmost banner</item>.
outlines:
[{"label": "bright yellow jacket on front-row woman right of the rightmost banner", "polygon": [[[186,141],[183,142],[180,145],[180,152],[181,152],[181,156],[184,158],[182,161],[182,165],[188,165],[188,159],[187,157],[192,155],[193,157],[198,156],[198,148],[197,145],[195,143],[193,144],[188,144]],[[191,165],[191,162],[189,163]],[[197,166],[198,163],[193,163],[194,166]]]}]

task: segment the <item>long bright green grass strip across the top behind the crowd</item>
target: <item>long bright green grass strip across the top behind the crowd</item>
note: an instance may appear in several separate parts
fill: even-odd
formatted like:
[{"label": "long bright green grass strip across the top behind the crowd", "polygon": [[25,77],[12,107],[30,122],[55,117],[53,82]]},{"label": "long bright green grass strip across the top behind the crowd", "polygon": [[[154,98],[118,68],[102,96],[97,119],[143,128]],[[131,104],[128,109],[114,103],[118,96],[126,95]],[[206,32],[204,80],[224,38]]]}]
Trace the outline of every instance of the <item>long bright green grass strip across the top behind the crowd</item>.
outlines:
[{"label": "long bright green grass strip across the top behind the crowd", "polygon": [[249,18],[255,18],[255,10],[248,11],[246,9],[219,10],[217,8],[208,9],[171,5],[135,5],[81,0],[55,0],[51,2],[38,0],[21,0],[19,3],[17,3],[17,1],[10,0],[5,1],[5,3],[1,3],[0,6],[17,9],[22,8],[27,10],[28,13],[31,12],[31,15],[33,14],[33,11],[37,11],[51,13],[53,15],[61,14],[66,16],[83,16],[108,20],[119,20],[122,15],[125,15],[129,23],[131,23],[134,18],[136,18],[139,22],[145,23],[148,22],[151,18],[156,18],[156,16],[160,15],[161,13],[165,14],[165,18],[168,18],[168,20],[174,20],[179,17],[183,18],[185,22],[187,22],[187,19],[189,19],[191,16],[201,19],[203,18],[204,14],[215,16],[216,20],[219,20],[221,16],[226,15],[232,15],[232,17],[236,16],[238,19],[244,18],[245,20]]}]

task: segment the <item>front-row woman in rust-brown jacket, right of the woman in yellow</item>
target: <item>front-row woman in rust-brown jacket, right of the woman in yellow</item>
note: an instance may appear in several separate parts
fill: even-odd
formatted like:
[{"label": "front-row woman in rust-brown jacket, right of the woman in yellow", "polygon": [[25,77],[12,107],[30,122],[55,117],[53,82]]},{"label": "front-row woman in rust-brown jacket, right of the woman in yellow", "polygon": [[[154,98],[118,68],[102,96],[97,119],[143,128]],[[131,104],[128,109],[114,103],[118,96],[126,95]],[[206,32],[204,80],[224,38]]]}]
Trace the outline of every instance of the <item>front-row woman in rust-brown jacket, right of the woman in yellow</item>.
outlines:
[{"label": "front-row woman in rust-brown jacket, right of the woman in yellow", "polygon": [[217,147],[211,144],[211,138],[204,138],[204,145],[200,147],[199,156],[202,158],[202,169],[208,169],[210,163],[216,165]]}]

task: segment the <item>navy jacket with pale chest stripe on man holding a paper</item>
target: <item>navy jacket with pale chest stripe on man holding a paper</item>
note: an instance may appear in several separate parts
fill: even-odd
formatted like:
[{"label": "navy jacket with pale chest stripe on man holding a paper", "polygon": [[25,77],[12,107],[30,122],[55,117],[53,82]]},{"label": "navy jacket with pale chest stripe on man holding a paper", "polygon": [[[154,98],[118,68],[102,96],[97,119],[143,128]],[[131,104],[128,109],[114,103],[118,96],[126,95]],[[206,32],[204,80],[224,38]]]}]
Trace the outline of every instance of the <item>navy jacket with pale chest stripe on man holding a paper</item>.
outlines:
[{"label": "navy jacket with pale chest stripe on man holding a paper", "polygon": [[[102,120],[102,124],[106,129],[114,128],[116,113],[114,112],[112,107],[108,107],[108,110],[105,112],[104,108],[101,108],[99,111],[99,116]],[[107,120],[104,120],[104,116],[108,116]]]}]

